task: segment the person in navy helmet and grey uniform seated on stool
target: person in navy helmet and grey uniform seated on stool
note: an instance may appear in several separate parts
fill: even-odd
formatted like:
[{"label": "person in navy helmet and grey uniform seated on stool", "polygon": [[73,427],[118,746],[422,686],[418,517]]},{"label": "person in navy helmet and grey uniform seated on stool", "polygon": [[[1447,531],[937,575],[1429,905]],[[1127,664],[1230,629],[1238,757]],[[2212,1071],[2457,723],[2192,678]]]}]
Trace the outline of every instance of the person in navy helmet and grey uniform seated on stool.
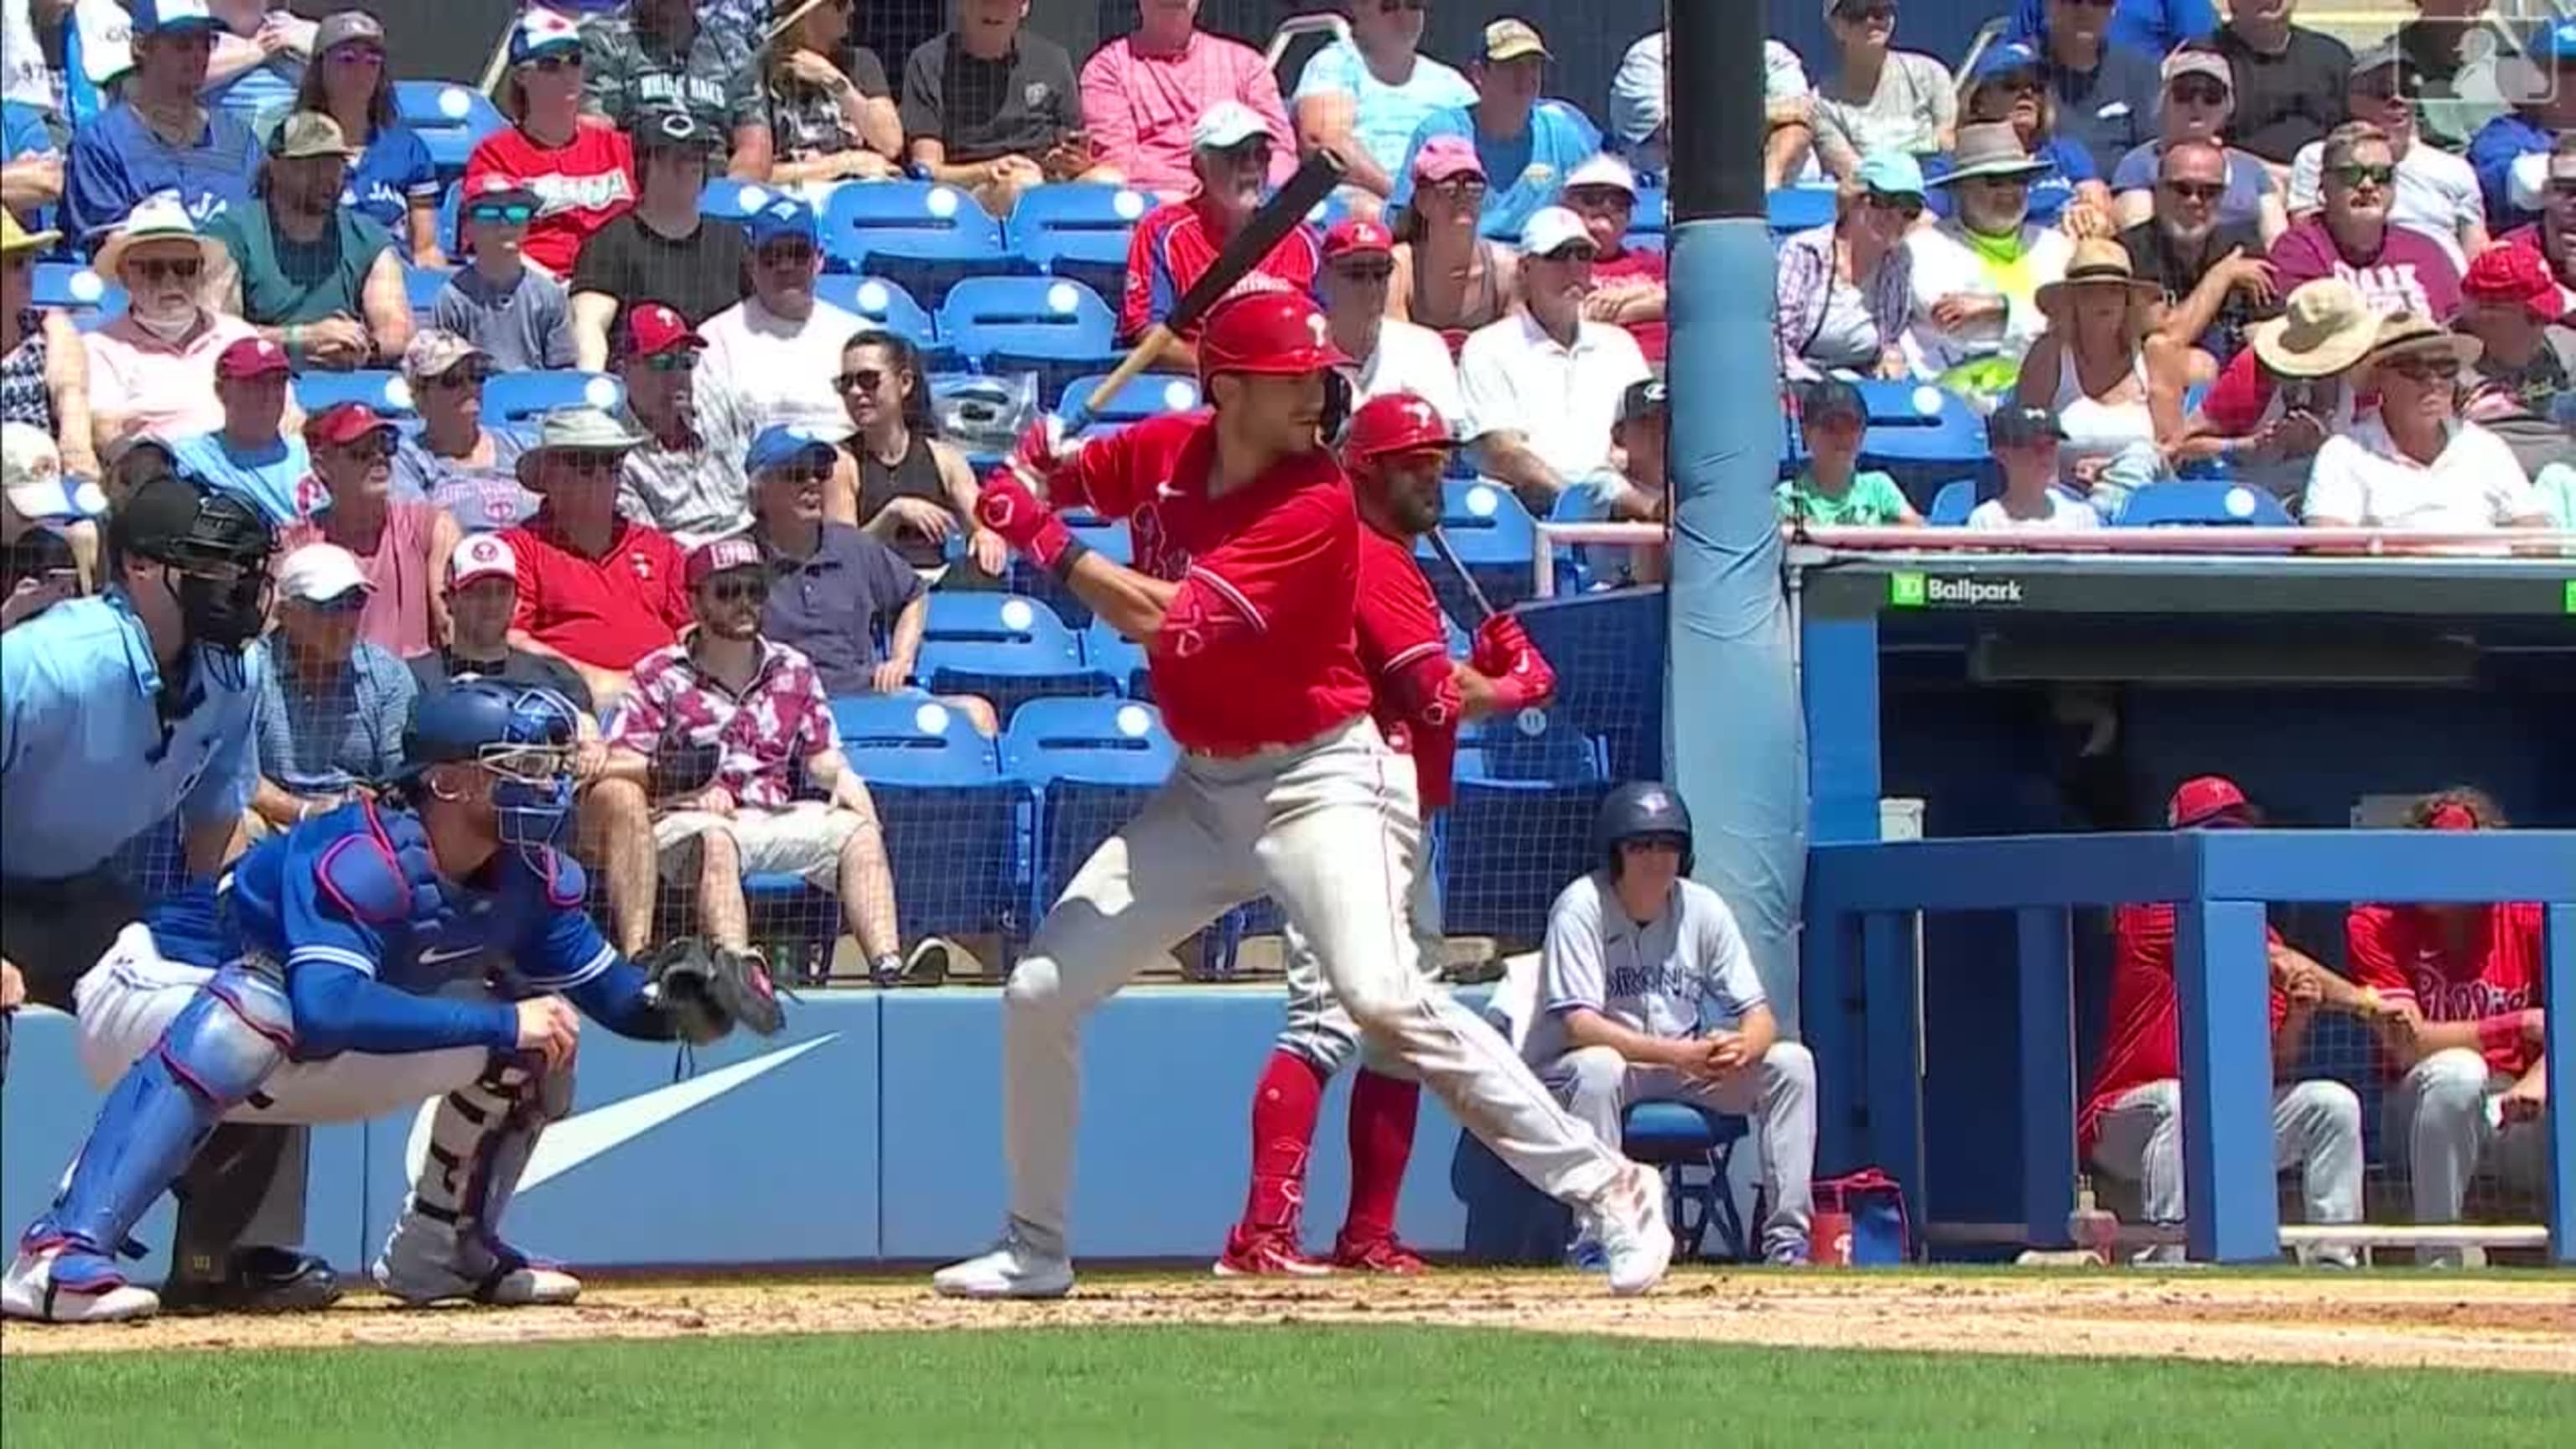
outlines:
[{"label": "person in navy helmet and grey uniform seated on stool", "polygon": [[[1744,931],[1690,874],[1690,810],[1654,781],[1602,797],[1602,866],[1548,908],[1540,1016],[1525,1052],[1595,1132],[1638,1101],[1754,1119],[1770,1214],[1762,1258],[1806,1263],[1816,1060],[1780,1039]],[[1716,1006],[1716,1021],[1708,1016]],[[1574,1258],[1589,1256],[1579,1238]]]}]

